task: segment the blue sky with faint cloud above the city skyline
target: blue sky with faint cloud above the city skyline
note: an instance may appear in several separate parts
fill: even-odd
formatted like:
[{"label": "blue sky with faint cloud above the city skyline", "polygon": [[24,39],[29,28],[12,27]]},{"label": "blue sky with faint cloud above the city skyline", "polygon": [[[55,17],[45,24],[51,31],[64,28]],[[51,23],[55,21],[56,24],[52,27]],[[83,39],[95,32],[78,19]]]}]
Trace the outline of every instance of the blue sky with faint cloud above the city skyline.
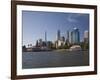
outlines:
[{"label": "blue sky with faint cloud above the city skyline", "polygon": [[47,41],[57,40],[57,31],[66,38],[67,31],[71,32],[78,28],[80,40],[83,40],[84,31],[89,31],[89,14],[85,13],[64,13],[64,12],[43,12],[43,11],[22,11],[23,45],[36,44],[36,40]]}]

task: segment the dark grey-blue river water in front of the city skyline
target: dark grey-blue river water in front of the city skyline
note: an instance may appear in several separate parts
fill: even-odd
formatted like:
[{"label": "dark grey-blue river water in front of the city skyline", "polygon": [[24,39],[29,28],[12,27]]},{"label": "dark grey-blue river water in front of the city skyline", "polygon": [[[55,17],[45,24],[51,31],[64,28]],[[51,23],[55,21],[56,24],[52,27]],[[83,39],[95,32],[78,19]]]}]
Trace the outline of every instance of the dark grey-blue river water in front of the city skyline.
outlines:
[{"label": "dark grey-blue river water in front of the city skyline", "polygon": [[23,69],[87,65],[89,65],[88,51],[46,51],[22,53]]}]

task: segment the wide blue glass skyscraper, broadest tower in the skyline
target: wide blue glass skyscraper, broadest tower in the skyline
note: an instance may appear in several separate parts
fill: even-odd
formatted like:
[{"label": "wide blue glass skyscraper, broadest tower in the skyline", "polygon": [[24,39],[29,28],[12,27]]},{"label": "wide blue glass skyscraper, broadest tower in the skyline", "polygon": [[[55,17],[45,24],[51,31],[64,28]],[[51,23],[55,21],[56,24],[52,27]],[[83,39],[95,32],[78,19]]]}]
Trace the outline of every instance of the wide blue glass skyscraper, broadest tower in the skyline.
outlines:
[{"label": "wide blue glass skyscraper, broadest tower in the skyline", "polygon": [[71,43],[72,44],[78,44],[80,42],[80,33],[79,29],[74,28],[71,32]]}]

